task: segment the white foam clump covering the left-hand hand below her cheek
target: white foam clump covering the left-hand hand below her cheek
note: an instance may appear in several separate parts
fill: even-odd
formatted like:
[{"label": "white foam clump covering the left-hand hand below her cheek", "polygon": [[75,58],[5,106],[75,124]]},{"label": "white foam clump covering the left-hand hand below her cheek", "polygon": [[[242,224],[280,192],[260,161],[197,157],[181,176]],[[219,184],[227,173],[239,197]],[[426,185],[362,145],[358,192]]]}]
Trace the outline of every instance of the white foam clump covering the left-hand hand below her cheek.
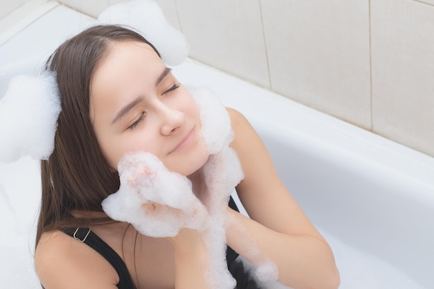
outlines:
[{"label": "white foam clump covering the left-hand hand below her cheek", "polygon": [[[181,228],[205,228],[207,210],[191,191],[186,177],[171,172],[154,155],[125,155],[118,166],[119,191],[103,200],[105,213],[130,222],[141,234],[176,236]],[[148,204],[148,206],[146,206]],[[155,207],[155,210],[149,209]]]}]

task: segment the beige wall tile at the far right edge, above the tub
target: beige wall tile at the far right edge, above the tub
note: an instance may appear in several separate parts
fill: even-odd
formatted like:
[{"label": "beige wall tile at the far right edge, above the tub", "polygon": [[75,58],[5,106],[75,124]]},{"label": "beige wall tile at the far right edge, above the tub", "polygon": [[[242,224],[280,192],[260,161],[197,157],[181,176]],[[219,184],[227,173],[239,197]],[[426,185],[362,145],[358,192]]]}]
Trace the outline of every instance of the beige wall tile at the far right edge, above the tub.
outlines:
[{"label": "beige wall tile at the far right edge, above the tub", "polygon": [[373,130],[434,155],[434,6],[371,5]]}]

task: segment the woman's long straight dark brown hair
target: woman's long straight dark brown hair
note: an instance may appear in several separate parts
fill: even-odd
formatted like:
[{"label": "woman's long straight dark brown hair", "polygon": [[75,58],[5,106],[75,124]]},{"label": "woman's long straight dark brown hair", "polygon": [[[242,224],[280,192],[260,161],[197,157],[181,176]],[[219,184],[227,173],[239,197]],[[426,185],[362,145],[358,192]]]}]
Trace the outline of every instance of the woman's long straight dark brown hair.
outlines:
[{"label": "woman's long straight dark brown hair", "polygon": [[[110,170],[94,134],[89,114],[92,76],[112,46],[144,42],[128,28],[92,26],[64,42],[46,62],[58,82],[62,112],[55,133],[55,148],[41,161],[42,202],[36,245],[45,231],[113,222],[110,218],[73,218],[71,211],[102,212],[101,202],[119,189],[119,175]],[[160,57],[161,58],[161,57]]]}]

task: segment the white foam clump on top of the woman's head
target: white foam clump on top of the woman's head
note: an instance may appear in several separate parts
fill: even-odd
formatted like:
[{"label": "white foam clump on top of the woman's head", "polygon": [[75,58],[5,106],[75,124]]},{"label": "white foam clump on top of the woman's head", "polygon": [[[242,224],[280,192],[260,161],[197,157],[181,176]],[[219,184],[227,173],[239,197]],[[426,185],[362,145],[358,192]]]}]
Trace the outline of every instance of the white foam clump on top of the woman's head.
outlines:
[{"label": "white foam clump on top of the woman's head", "polygon": [[189,55],[189,45],[184,35],[166,21],[161,8],[154,1],[136,0],[112,5],[101,12],[96,24],[134,28],[155,46],[168,65],[180,64]]}]

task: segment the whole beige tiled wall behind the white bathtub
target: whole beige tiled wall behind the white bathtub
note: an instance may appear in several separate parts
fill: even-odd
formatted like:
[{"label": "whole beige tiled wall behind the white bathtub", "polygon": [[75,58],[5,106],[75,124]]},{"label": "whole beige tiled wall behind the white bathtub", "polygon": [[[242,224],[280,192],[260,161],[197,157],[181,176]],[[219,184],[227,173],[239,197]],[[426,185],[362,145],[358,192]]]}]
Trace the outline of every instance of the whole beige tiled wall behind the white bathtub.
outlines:
[{"label": "whole beige tiled wall behind the white bathtub", "polygon": [[[156,1],[191,58],[434,156],[434,0]],[[41,2],[0,0],[0,34]]]}]

